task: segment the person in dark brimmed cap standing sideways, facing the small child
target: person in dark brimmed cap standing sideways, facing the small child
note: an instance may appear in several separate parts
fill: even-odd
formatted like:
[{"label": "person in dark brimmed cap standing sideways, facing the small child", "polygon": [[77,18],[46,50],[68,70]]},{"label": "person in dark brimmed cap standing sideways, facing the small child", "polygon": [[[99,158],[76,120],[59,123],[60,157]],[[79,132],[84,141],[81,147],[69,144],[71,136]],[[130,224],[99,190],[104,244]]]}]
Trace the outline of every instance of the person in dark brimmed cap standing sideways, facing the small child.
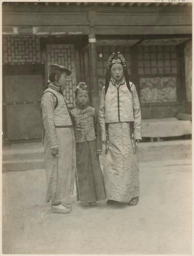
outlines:
[{"label": "person in dark brimmed cap standing sideways, facing the small child", "polygon": [[63,96],[66,77],[71,72],[64,66],[49,65],[49,83],[41,99],[46,165],[46,202],[52,202],[52,211],[69,213],[67,204],[74,186],[76,152],[70,112]]}]

